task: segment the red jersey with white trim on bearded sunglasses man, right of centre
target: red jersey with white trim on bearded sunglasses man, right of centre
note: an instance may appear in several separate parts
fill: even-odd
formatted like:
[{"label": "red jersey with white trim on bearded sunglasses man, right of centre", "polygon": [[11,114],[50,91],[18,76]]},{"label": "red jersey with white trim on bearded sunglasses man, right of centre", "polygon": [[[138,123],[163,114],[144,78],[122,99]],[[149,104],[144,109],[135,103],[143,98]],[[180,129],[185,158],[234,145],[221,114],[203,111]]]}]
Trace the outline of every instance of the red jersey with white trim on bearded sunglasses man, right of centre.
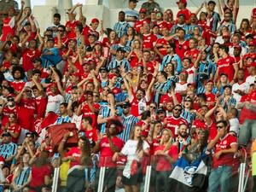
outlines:
[{"label": "red jersey with white trim on bearded sunglasses man, right of centre", "polygon": [[181,124],[188,125],[187,120],[183,119],[182,117],[175,118],[173,116],[170,116],[170,117],[166,117],[164,121],[166,122],[166,125],[165,125],[166,129],[172,131],[172,136],[174,138],[177,137],[177,130],[179,125]]}]

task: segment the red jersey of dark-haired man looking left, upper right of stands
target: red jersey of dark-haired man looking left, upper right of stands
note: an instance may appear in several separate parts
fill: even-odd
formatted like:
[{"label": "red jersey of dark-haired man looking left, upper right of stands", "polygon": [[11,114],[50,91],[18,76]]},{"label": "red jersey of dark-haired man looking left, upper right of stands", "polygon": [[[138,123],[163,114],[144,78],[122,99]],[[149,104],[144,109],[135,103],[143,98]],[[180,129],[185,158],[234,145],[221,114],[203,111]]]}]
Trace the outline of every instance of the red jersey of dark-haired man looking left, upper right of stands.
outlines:
[{"label": "red jersey of dark-haired man looking left, upper right of stands", "polygon": [[221,73],[225,73],[228,75],[228,79],[231,82],[234,78],[235,69],[233,64],[235,63],[234,57],[228,55],[225,58],[221,58],[217,62],[218,67],[218,77]]}]

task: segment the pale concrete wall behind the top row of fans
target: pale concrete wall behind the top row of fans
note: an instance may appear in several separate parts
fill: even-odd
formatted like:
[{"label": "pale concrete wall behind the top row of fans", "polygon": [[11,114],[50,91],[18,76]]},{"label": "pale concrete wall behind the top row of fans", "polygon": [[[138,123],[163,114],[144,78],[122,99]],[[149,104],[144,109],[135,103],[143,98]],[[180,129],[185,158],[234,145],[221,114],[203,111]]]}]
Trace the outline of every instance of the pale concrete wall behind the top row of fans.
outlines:
[{"label": "pale concrete wall behind the top row of fans", "polygon": [[[89,1],[89,0],[87,0]],[[101,5],[93,5],[96,1]],[[137,7],[141,7],[142,3],[145,1],[140,1],[137,3]],[[174,15],[177,13],[177,5],[176,0],[157,0],[156,2],[160,3],[160,6],[163,10],[172,9]],[[193,2],[193,3],[191,3]],[[197,7],[195,5],[200,5],[202,1],[194,0],[188,1],[188,8],[195,12]],[[114,23],[118,20],[118,12],[120,10],[124,10],[127,7],[128,0],[90,0],[86,2],[86,5],[83,7],[83,13],[87,17],[87,23],[90,24],[91,18],[98,18],[99,20],[103,20],[104,27],[113,27]],[[240,26],[240,22],[242,18],[250,18],[251,11],[253,9],[253,0],[247,0],[241,2],[241,8],[239,10],[239,15],[237,18],[237,26]],[[65,23],[67,20],[67,15],[65,11],[57,10],[55,6],[34,6],[32,9],[33,15],[38,20],[41,31],[43,31],[47,26],[52,23],[52,15],[54,15],[58,11],[61,14],[61,23]]]}]

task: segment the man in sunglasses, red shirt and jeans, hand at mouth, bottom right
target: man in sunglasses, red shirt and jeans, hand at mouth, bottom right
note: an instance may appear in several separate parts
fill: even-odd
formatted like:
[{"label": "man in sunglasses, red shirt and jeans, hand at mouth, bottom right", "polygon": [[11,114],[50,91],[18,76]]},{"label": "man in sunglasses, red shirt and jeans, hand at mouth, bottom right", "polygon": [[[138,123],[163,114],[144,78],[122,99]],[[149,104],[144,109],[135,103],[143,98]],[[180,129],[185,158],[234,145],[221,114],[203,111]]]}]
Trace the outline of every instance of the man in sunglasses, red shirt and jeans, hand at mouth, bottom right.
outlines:
[{"label": "man in sunglasses, red shirt and jeans, hand at mouth, bottom right", "polygon": [[215,148],[212,158],[212,171],[209,177],[208,192],[231,191],[232,167],[238,162],[234,155],[237,152],[237,138],[228,132],[227,122],[220,120],[216,123],[217,136],[208,144],[207,150]]}]

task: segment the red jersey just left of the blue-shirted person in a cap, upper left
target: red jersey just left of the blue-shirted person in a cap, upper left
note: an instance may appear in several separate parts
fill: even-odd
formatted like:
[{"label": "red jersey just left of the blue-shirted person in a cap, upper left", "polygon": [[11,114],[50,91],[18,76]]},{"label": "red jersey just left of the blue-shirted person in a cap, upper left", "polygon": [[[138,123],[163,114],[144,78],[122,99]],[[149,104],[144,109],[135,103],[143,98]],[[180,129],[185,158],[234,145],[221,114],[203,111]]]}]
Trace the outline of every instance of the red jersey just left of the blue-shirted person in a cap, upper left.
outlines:
[{"label": "red jersey just left of the blue-shirted person in a cap, upper left", "polygon": [[24,68],[25,72],[33,69],[33,59],[40,57],[41,52],[38,49],[25,49],[22,55],[22,67]]}]

